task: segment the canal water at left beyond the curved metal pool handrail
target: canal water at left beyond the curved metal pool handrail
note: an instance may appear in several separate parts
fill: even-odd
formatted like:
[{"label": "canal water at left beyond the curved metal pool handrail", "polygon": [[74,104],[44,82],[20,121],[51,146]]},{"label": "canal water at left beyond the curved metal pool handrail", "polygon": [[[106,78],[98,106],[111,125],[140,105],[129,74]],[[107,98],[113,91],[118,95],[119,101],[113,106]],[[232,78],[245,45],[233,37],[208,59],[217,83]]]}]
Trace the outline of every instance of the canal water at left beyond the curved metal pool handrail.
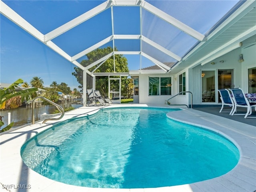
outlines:
[{"label": "canal water at left beyond the curved metal pool handrail", "polygon": [[[79,108],[82,107],[82,104],[65,104],[58,103],[58,105],[62,106],[64,109],[69,107]],[[52,114],[57,108],[55,106],[36,106],[35,107],[35,121],[40,120],[40,115]],[[32,107],[20,106],[15,109],[9,110],[1,110],[0,116],[3,116],[2,121],[4,125],[8,123],[8,112],[11,113],[11,122],[14,122],[12,127],[18,127],[27,123],[32,123]]]}]

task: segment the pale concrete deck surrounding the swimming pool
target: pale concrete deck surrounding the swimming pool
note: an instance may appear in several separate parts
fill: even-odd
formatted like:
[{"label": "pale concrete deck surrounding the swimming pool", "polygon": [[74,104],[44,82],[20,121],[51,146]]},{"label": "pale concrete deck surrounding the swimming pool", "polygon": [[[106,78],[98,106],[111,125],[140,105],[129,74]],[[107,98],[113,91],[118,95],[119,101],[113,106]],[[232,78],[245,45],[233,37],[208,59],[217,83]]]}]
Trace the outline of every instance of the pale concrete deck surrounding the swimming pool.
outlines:
[{"label": "pale concrete deck surrounding the swimming pool", "polygon": [[[152,106],[145,104],[112,104],[120,106]],[[178,106],[158,106],[178,108]],[[31,137],[52,127],[57,122],[76,116],[88,116],[101,107],[81,107],[66,112],[62,120],[36,122],[35,125],[14,128],[0,135],[0,192],[254,192],[256,190],[256,126],[229,120],[220,116],[185,109],[168,113],[169,118],[221,133],[240,151],[238,165],[230,172],[202,182],[180,186],[140,189],[106,189],[72,186],[46,178],[28,168],[20,157],[20,148]],[[181,107],[183,108],[183,107]],[[256,121],[256,120],[255,120]],[[54,123],[54,124],[52,124]],[[7,189],[5,189],[7,188]]]}]

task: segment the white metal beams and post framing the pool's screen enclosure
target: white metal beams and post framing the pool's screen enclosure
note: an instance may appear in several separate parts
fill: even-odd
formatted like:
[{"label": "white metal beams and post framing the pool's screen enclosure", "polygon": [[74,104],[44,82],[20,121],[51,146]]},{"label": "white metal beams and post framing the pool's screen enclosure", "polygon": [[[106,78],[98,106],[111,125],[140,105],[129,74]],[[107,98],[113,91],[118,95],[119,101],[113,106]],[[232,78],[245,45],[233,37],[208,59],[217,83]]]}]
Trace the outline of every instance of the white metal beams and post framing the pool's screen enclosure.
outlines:
[{"label": "white metal beams and post framing the pool's screen enclosure", "polygon": [[[73,20],[67,22],[66,24],[50,31],[47,34],[42,34],[38,29],[36,29],[34,26],[32,26],[30,23],[28,23],[24,18],[22,18],[20,15],[18,15],[16,12],[14,12],[14,10],[12,10],[10,7],[8,7],[4,2],[1,1],[0,3],[1,3],[0,4],[1,14],[3,14],[4,16],[6,16],[10,20],[12,20],[14,23],[19,25],[22,29],[24,29],[25,31],[27,31],[28,33],[30,33],[31,35],[36,37],[39,41],[45,43],[52,50],[56,51],[59,55],[61,55],[62,57],[64,57],[65,59],[67,59],[68,61],[70,61],[71,63],[73,63],[80,69],[82,69],[83,71],[86,71],[91,76],[94,76],[94,75],[92,74],[92,72],[88,71],[88,69],[90,69],[91,67],[93,67],[95,65],[98,65],[99,63],[101,63],[100,65],[102,65],[102,63],[104,63],[104,61],[106,61],[109,57],[111,57],[115,54],[140,54],[140,55],[143,55],[144,57],[150,59],[152,62],[154,62],[156,65],[158,65],[164,71],[166,71],[166,72],[170,71],[170,67],[168,67],[164,63],[161,63],[160,61],[154,59],[153,57],[150,57],[149,55],[147,55],[146,53],[143,53],[142,51],[139,51],[139,52],[120,51],[120,52],[118,52],[118,51],[114,51],[114,46],[113,46],[112,53],[106,55],[105,57],[102,57],[98,61],[95,61],[94,63],[91,63],[90,65],[88,65],[86,67],[82,66],[80,63],[78,63],[76,61],[80,57],[83,57],[87,53],[90,53],[91,51],[112,41],[113,39],[140,39],[141,41],[144,41],[144,42],[156,47],[157,49],[166,53],[170,57],[173,57],[177,61],[181,60],[181,57],[172,53],[171,51],[168,51],[167,49],[158,45],[154,41],[144,37],[142,34],[139,34],[139,35],[117,35],[117,34],[114,34],[114,30],[112,30],[112,35],[110,37],[103,39],[102,41],[96,43],[95,45],[91,46],[88,49],[81,51],[80,53],[78,53],[74,56],[68,55],[68,53],[63,51],[60,47],[58,47],[58,45],[56,45],[55,43],[52,42],[52,39],[58,37],[62,33],[65,33],[66,31],[68,31],[68,30],[72,29],[73,27],[76,27],[77,25],[94,17],[95,15],[99,14],[100,12],[103,12],[104,10],[111,8],[112,6],[140,6],[141,8],[144,8],[145,10],[158,16],[162,20],[168,22],[169,24],[174,25],[178,29],[184,31],[185,33],[194,37],[195,39],[198,39],[198,41],[202,41],[205,38],[204,35],[202,35],[198,31],[192,29],[191,27],[183,24],[179,20],[176,20],[172,16],[170,16],[170,15],[166,14],[165,12],[159,10],[158,8],[152,6],[145,0],[140,0],[140,1],[137,1],[137,0],[107,0],[106,2],[103,2],[102,4],[96,6],[95,8],[89,10],[88,12],[78,16],[77,18],[74,18]],[[113,9],[111,9],[111,14],[113,15]],[[112,19],[112,29],[114,28],[113,23],[114,22]],[[114,44],[114,41],[113,41],[113,44]],[[98,67],[100,67],[100,65]],[[114,65],[115,65],[115,63],[114,63]],[[114,69],[115,69],[115,67],[114,67]],[[84,75],[84,76],[86,76],[86,75]],[[83,89],[86,90],[86,77],[85,77]],[[84,100],[84,105],[85,105],[86,104],[86,95],[83,96],[83,100]]]}]

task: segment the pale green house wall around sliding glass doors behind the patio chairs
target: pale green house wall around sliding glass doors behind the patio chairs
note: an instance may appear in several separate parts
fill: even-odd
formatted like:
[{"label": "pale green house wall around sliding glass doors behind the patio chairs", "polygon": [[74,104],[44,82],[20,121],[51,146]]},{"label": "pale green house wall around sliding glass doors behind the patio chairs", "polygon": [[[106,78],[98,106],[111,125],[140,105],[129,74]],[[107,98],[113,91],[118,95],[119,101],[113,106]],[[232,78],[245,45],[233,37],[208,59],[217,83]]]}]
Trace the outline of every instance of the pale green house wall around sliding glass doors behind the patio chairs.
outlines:
[{"label": "pale green house wall around sliding glass doors behind the patio chairs", "polygon": [[[192,69],[189,69],[189,90],[193,93],[193,104],[218,104],[218,99],[216,102],[212,103],[202,103],[202,71],[215,71],[215,98],[218,97],[217,92],[217,77],[218,69],[233,69],[234,70],[234,88],[242,88],[244,92],[248,92],[248,69],[256,67],[256,45],[247,47],[249,42],[255,42],[256,36],[247,39],[244,43],[244,46],[235,49],[221,57],[210,61],[206,65],[198,65]],[[246,43],[248,42],[248,43]],[[250,43],[249,43],[250,45]],[[239,56],[243,54],[244,62],[239,63]],[[223,60],[224,63],[219,61]],[[210,63],[214,62],[215,65]]]}]

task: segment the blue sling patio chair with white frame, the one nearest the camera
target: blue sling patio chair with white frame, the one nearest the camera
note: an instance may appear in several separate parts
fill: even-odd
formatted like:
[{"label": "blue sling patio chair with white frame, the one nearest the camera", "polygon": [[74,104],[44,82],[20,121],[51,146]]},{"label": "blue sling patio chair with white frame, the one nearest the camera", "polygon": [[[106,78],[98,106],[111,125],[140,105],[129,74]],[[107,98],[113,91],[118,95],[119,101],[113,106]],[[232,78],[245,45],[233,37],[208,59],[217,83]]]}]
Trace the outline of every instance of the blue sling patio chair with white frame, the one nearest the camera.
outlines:
[{"label": "blue sling patio chair with white frame, the one nearest the camera", "polygon": [[[256,103],[250,103],[246,98],[244,92],[240,88],[230,89],[232,92],[232,98],[234,100],[234,110],[231,115],[234,115],[236,112],[237,107],[244,107],[247,108],[246,114],[235,114],[235,115],[245,115],[244,118],[247,118],[248,115],[252,114],[252,107],[256,107]],[[249,117],[249,118],[256,118],[256,117]]]}]

